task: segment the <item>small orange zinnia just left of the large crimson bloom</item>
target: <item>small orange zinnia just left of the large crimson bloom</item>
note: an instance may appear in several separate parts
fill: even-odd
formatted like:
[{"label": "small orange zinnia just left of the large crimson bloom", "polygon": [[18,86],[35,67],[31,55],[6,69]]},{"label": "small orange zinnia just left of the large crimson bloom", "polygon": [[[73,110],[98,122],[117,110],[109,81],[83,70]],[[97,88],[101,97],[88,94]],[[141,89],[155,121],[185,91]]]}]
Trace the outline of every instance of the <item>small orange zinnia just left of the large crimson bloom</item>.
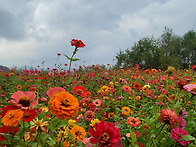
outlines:
[{"label": "small orange zinnia just left of the large crimson bloom", "polygon": [[71,130],[70,130],[71,135],[73,138],[77,141],[82,141],[84,136],[86,135],[86,132],[83,127],[75,125]]}]

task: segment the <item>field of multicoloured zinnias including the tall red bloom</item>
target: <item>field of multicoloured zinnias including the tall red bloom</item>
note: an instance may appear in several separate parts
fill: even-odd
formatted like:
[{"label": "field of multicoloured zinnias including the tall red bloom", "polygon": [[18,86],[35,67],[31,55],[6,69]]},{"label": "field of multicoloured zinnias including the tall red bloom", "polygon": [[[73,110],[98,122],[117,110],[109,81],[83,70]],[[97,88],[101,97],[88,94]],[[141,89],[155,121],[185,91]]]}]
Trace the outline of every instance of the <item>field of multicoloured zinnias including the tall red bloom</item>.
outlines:
[{"label": "field of multicoloured zinnias including the tall red bloom", "polygon": [[0,146],[196,146],[196,65],[70,71],[85,47],[75,39],[71,45],[69,70],[0,71]]}]

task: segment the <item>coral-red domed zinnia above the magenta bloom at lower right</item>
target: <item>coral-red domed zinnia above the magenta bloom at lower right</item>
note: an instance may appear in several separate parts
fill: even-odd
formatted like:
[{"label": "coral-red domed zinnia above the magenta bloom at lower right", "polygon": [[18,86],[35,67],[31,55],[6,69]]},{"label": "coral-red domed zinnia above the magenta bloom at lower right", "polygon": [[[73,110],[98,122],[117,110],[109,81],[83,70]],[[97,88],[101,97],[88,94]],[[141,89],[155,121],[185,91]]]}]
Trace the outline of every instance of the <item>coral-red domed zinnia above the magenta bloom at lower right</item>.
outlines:
[{"label": "coral-red domed zinnia above the magenta bloom at lower right", "polygon": [[171,109],[163,109],[160,111],[160,116],[158,118],[161,123],[165,123],[170,125],[171,127],[174,127],[176,123],[178,123],[178,116],[176,115],[176,112]]}]

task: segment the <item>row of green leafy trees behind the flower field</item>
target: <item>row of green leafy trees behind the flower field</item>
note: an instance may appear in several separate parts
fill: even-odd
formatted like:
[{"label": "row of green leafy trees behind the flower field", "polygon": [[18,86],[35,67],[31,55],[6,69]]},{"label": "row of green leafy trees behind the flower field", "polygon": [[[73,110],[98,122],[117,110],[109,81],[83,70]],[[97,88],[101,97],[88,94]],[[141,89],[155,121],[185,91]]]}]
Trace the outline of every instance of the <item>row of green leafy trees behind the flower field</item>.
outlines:
[{"label": "row of green leafy trees behind the flower field", "polygon": [[196,32],[191,30],[180,37],[165,27],[158,39],[144,37],[131,49],[117,53],[116,59],[116,68],[129,68],[130,64],[139,64],[145,69],[188,68],[196,65]]}]

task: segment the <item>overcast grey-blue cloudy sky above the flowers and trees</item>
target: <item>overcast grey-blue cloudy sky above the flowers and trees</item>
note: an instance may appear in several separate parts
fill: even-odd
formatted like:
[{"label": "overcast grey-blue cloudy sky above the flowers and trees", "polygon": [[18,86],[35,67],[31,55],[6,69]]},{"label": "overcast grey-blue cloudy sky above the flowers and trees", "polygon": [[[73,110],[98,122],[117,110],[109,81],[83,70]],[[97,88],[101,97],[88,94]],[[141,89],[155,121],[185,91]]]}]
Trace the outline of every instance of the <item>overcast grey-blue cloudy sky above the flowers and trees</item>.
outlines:
[{"label": "overcast grey-blue cloudy sky above the flowers and trees", "polygon": [[[115,56],[164,27],[196,31],[196,0],[0,0],[0,65],[69,63],[70,40],[85,44],[78,65],[115,64]],[[75,64],[73,63],[73,65]]]}]

